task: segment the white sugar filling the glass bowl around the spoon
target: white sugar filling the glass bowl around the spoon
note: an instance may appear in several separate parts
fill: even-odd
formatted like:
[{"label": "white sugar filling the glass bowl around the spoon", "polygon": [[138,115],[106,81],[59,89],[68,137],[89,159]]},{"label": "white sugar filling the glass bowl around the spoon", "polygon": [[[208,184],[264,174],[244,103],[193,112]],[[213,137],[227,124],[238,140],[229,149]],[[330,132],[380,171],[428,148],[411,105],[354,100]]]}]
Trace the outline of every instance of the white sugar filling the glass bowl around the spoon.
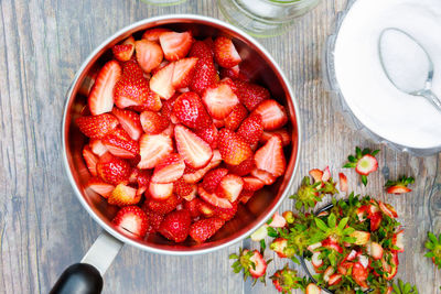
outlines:
[{"label": "white sugar filling the glass bowl around the spoon", "polygon": [[[424,98],[398,90],[384,73],[378,41],[387,28],[408,32],[428,51],[434,64],[432,90],[441,96],[440,0],[357,0],[343,21],[335,45],[335,72],[341,91],[353,113],[378,135],[410,148],[440,146],[439,111]],[[409,45],[405,40],[390,42],[402,45],[395,61],[416,54],[415,46],[404,48]],[[407,87],[417,87],[421,80],[411,80],[415,75],[404,72],[401,65],[391,61],[388,66]],[[423,72],[427,64],[421,59],[407,66]]]}]

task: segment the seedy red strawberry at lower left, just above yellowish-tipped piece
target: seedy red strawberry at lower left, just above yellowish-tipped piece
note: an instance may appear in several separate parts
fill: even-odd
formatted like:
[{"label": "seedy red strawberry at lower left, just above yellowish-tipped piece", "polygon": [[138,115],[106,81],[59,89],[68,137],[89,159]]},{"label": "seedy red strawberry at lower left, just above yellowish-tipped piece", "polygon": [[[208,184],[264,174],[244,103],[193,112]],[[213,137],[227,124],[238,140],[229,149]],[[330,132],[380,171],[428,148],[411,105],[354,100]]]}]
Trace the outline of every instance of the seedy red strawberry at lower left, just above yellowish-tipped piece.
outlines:
[{"label": "seedy red strawberry at lower left, just above yellowish-tipped piece", "polygon": [[127,161],[106,153],[98,160],[97,173],[106,183],[116,186],[129,182],[131,167]]}]

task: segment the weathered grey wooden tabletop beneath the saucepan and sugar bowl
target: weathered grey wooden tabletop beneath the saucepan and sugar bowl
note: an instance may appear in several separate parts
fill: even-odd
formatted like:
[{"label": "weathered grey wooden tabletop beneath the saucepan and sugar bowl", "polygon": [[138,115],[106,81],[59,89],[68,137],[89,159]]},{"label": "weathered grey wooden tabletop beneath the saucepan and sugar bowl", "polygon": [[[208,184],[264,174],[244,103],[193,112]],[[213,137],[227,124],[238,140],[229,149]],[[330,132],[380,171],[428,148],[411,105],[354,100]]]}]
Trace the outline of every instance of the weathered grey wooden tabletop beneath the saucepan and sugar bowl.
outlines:
[{"label": "weathered grey wooden tabletop beneath the saucepan and sugar bowl", "polygon": [[[321,79],[323,41],[344,0],[323,0],[289,33],[260,40],[280,63],[300,102],[304,142],[297,188],[312,167],[336,168],[355,145],[379,148],[379,172],[363,188],[348,172],[349,187],[387,199],[406,226],[398,276],[420,293],[439,293],[440,271],[423,258],[428,230],[441,228],[441,156],[418,159],[361,137],[332,110]],[[64,95],[84,58],[107,36],[144,18],[198,13],[223,19],[215,1],[189,0],[157,8],[135,0],[0,1],[0,292],[47,293],[57,275],[80,260],[101,229],[83,209],[64,172],[61,120]],[[385,178],[415,175],[413,192],[385,195]],[[287,199],[281,209],[292,208]],[[105,276],[105,293],[276,293],[251,287],[230,271],[228,254],[178,258],[125,247]],[[245,244],[249,246],[249,244]],[[275,265],[281,268],[284,261]],[[298,266],[295,266],[298,268]],[[269,282],[270,283],[270,282]]]}]

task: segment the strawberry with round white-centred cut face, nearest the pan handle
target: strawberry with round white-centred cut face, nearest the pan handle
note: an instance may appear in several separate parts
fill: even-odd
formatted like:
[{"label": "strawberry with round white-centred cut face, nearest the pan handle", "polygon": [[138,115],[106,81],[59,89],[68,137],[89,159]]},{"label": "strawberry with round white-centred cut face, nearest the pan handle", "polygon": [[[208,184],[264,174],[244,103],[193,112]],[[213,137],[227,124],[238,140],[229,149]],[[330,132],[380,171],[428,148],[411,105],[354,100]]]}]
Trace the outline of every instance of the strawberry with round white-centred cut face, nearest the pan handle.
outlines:
[{"label": "strawberry with round white-centred cut face, nearest the pan handle", "polygon": [[143,238],[149,228],[149,220],[146,213],[138,206],[122,207],[111,220],[115,226]]}]

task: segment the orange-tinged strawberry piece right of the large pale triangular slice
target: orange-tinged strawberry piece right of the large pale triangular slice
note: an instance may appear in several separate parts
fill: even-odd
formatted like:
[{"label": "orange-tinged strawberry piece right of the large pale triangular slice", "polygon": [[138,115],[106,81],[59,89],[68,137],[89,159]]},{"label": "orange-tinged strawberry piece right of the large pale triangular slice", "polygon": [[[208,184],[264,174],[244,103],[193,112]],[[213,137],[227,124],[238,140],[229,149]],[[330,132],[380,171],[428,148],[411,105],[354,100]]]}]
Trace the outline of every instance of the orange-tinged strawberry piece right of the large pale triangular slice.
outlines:
[{"label": "orange-tinged strawberry piece right of the large pale triangular slice", "polygon": [[219,131],[218,149],[222,159],[230,165],[239,165],[252,155],[252,150],[247,142],[228,129]]}]

